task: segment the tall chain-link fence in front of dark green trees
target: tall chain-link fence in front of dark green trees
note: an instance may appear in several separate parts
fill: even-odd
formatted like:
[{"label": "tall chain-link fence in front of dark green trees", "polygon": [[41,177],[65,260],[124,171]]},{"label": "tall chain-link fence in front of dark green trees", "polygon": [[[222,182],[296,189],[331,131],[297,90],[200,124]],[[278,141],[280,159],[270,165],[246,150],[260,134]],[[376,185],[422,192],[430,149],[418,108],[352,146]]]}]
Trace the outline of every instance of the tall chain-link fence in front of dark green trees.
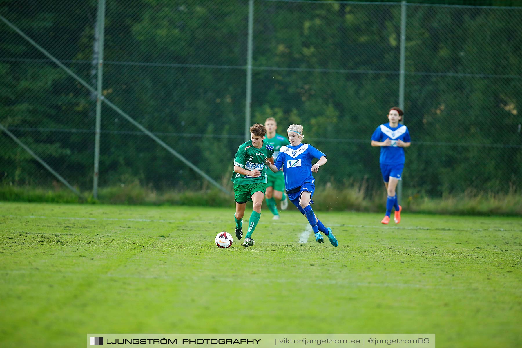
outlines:
[{"label": "tall chain-link fence in front of dark green trees", "polygon": [[[370,136],[401,103],[406,15],[404,123],[412,146],[404,189],[441,195],[519,186],[522,8],[105,1],[102,32],[94,0],[17,0],[0,8],[4,183],[57,181],[21,142],[66,182],[92,189],[103,52],[101,187],[139,180],[198,188],[211,179],[230,189],[248,109],[250,124],[272,116],[283,135],[289,124],[304,126],[305,142],[329,158],[319,183],[382,190]],[[252,102],[245,108],[249,19]]]}]

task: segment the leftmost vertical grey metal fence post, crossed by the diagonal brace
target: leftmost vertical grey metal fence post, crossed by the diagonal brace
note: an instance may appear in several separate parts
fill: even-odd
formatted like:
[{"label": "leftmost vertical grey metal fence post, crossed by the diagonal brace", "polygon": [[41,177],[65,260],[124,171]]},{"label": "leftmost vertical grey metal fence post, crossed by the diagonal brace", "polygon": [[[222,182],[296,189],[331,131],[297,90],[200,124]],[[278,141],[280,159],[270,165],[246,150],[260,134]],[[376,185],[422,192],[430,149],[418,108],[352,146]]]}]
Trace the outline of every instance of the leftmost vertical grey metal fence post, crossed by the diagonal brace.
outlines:
[{"label": "leftmost vertical grey metal fence post, crossed by the diagonal brace", "polygon": [[100,128],[101,102],[103,83],[103,39],[105,31],[105,0],[98,0],[98,87],[96,94],[96,128],[94,130],[94,174],[92,182],[92,196],[98,198],[98,177],[100,171]]}]

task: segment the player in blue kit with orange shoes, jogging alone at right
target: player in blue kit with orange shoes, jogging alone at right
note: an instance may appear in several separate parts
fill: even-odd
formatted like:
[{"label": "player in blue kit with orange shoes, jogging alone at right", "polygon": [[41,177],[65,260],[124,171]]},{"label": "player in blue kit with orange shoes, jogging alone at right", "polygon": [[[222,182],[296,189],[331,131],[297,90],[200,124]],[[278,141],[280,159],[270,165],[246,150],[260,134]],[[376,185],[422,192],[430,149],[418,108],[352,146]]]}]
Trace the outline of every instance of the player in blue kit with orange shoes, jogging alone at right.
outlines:
[{"label": "player in blue kit with orange shoes, jogging alone at right", "polygon": [[402,178],[404,168],[404,148],[411,145],[410,132],[406,126],[399,124],[404,112],[398,107],[392,107],[388,111],[389,123],[382,124],[375,129],[372,135],[372,146],[381,146],[381,172],[383,173],[384,185],[388,193],[386,200],[386,215],[381,223],[388,224],[390,213],[395,208],[395,223],[400,222],[402,207],[397,202],[395,188]]}]

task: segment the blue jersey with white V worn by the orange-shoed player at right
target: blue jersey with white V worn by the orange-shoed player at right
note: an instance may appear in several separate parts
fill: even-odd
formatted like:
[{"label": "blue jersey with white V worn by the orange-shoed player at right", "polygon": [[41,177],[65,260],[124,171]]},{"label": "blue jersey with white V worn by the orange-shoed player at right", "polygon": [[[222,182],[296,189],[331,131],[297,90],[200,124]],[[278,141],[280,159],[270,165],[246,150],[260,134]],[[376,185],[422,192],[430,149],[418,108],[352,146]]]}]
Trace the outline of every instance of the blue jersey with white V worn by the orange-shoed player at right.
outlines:
[{"label": "blue jersey with white V worn by the orange-shoed player at right", "polygon": [[397,146],[397,140],[410,142],[410,132],[408,127],[399,124],[397,127],[391,127],[389,122],[382,124],[375,129],[372,134],[372,140],[384,141],[392,140],[391,146],[381,147],[381,158],[379,162],[382,164],[404,164],[404,148]]}]

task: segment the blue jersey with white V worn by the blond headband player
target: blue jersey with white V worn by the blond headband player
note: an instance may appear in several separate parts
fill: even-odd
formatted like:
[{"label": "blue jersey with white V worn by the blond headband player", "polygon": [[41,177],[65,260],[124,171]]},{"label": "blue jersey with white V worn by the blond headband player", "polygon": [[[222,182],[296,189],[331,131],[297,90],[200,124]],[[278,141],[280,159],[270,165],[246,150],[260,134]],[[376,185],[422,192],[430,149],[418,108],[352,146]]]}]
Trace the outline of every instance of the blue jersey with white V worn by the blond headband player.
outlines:
[{"label": "blue jersey with white V worn by the blond headband player", "polygon": [[277,169],[283,167],[284,187],[287,191],[301,187],[304,183],[314,183],[312,159],[326,155],[309,144],[283,146],[274,162]]}]

